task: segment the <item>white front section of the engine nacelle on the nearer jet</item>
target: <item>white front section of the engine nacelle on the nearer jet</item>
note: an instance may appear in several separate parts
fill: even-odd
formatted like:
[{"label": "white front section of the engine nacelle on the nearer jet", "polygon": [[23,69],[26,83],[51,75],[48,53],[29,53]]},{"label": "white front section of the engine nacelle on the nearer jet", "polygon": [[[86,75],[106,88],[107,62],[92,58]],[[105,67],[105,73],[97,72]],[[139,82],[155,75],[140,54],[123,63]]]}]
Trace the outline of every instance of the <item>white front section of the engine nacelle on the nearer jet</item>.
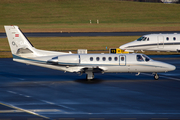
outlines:
[{"label": "white front section of the engine nacelle on the nearer jet", "polygon": [[59,65],[79,65],[80,57],[79,55],[62,55],[58,56]]}]

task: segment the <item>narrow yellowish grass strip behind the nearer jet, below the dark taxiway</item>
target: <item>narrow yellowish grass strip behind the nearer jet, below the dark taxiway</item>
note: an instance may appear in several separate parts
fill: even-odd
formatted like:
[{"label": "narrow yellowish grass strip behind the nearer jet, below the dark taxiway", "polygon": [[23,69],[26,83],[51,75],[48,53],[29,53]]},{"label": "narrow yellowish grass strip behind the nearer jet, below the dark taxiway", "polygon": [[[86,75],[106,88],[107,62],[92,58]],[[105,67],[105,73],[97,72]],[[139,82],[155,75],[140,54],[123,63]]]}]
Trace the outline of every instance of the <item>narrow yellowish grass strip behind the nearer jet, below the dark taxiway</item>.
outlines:
[{"label": "narrow yellowish grass strip behind the nearer jet, below the dark taxiway", "polygon": [[[118,48],[140,36],[108,37],[29,37],[37,49],[77,53],[77,49],[87,49],[88,53],[109,53],[109,48]],[[0,58],[11,58],[7,38],[0,38]],[[107,47],[107,49],[106,49]],[[176,52],[145,52],[147,55],[179,54]]]}]

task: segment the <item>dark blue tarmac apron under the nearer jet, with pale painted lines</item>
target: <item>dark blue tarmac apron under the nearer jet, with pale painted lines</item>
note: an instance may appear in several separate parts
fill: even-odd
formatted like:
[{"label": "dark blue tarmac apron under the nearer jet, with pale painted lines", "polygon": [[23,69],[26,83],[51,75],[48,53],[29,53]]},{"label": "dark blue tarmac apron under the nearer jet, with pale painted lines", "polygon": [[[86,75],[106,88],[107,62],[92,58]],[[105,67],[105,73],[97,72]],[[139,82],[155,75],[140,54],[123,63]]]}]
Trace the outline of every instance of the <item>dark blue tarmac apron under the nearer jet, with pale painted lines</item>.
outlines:
[{"label": "dark blue tarmac apron under the nearer jet, with pale painted lines", "polygon": [[176,70],[139,76],[85,74],[0,59],[0,120],[162,120],[180,119],[180,55],[150,56]]}]

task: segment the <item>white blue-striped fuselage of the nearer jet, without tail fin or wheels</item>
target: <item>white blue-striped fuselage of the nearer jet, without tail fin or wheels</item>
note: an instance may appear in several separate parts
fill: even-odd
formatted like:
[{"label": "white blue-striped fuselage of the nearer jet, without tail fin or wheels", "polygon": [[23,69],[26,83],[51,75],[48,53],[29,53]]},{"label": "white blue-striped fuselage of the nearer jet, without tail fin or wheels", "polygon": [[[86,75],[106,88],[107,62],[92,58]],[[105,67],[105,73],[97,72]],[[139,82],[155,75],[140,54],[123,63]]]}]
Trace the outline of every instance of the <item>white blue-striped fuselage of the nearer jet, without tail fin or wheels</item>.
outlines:
[{"label": "white blue-striped fuselage of the nearer jet, without tail fin or wheels", "polygon": [[[138,60],[141,56],[142,60]],[[68,72],[168,72],[175,66],[146,58],[144,54],[67,54],[49,57],[20,58],[14,60]],[[46,58],[46,59],[45,59]],[[148,60],[146,60],[148,59]]]}]

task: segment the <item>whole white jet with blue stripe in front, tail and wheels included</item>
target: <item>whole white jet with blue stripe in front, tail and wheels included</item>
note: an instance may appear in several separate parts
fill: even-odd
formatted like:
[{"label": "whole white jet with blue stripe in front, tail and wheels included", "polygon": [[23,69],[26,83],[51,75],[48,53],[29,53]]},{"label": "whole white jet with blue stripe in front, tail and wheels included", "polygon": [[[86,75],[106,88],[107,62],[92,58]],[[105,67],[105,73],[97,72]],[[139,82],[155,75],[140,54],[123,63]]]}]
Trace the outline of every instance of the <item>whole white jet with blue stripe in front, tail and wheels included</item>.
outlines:
[{"label": "whole white jet with blue stripe in front, tail and wheels included", "polygon": [[33,47],[18,26],[4,26],[13,60],[65,72],[85,73],[86,79],[94,78],[94,73],[107,72],[168,72],[175,66],[155,61],[144,54],[72,54],[39,50]]}]

